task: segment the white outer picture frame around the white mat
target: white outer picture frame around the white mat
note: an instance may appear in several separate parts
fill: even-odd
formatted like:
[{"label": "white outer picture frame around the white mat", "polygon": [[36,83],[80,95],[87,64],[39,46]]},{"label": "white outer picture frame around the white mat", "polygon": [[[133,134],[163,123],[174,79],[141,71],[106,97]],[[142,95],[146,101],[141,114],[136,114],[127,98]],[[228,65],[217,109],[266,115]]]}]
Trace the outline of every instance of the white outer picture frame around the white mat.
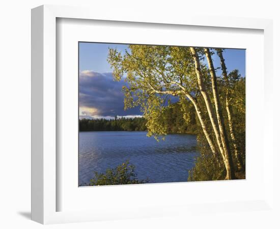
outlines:
[{"label": "white outer picture frame around the white mat", "polygon": [[[272,116],[272,21],[267,19],[245,19],[230,17],[201,17],[201,16],[180,16],[166,18],[164,15],[145,15],[136,17],[126,14],[105,15],[102,12],[94,12],[94,9],[84,7],[65,6],[40,6],[32,10],[32,219],[43,223],[82,222],[106,219],[126,219],[135,217],[167,216],[172,214],[185,214],[191,211],[200,212],[201,204],[208,204],[209,209],[222,206],[225,211],[251,211],[257,208],[262,210],[273,209],[273,149],[271,135],[262,135],[263,144],[268,146],[266,154],[263,155],[262,175],[264,189],[258,198],[250,200],[236,199],[236,202],[229,200],[217,201],[214,203],[202,201],[199,204],[191,203],[182,205],[139,206],[129,212],[116,209],[114,204],[111,210],[101,208],[92,210],[81,210],[75,207],[66,211],[57,211],[59,198],[57,172],[60,164],[57,163],[57,94],[60,88],[57,87],[57,18],[89,19],[118,22],[145,22],[154,25],[178,25],[203,26],[209,30],[217,28],[239,28],[263,31],[264,39],[264,91],[261,94],[261,101],[268,101],[263,104],[266,112],[264,117]],[[145,26],[145,24],[143,25]],[[262,83],[262,82],[261,82]],[[260,84],[261,85],[261,84]],[[273,123],[270,118],[265,118],[261,123],[263,133],[272,133]],[[269,149],[270,147],[270,149]],[[262,149],[263,150],[263,149]],[[70,163],[70,162],[69,162]],[[242,181],[241,181],[242,182]],[[220,182],[221,183],[221,182]],[[199,183],[193,183],[199,185]],[[231,187],[235,184],[232,182]],[[150,185],[159,190],[159,185]],[[133,187],[130,186],[130,189]],[[135,187],[135,186],[134,186]],[[138,186],[139,187],[139,186]],[[147,186],[146,186],[147,187]],[[181,188],[180,184],[173,184],[173,190]],[[103,187],[102,187],[103,188]],[[108,188],[108,187],[104,187]],[[123,187],[118,187],[120,190]],[[151,189],[151,188],[150,188]],[[86,189],[85,189],[86,190]],[[93,189],[92,189],[93,190]],[[105,189],[103,189],[105,190]],[[112,189],[111,189],[112,190]],[[240,206],[242,206],[240,208]],[[136,206],[137,207],[137,206]],[[119,211],[117,213],[117,211]],[[126,213],[126,214],[124,214]]]}]

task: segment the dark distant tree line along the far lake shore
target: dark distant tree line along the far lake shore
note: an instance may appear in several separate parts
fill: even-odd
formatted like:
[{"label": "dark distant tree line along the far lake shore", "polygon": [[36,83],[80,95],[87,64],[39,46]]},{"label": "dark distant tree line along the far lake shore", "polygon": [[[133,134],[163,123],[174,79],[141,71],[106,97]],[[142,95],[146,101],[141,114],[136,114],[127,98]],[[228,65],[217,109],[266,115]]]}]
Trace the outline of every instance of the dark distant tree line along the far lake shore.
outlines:
[{"label": "dark distant tree line along the far lake shore", "polygon": [[[189,106],[188,122],[184,119],[184,111],[179,103],[170,103],[162,108],[162,125],[167,133],[196,133],[197,124],[195,110]],[[186,117],[185,117],[186,118]],[[79,131],[147,131],[147,121],[143,117],[114,119],[81,119]]]}]

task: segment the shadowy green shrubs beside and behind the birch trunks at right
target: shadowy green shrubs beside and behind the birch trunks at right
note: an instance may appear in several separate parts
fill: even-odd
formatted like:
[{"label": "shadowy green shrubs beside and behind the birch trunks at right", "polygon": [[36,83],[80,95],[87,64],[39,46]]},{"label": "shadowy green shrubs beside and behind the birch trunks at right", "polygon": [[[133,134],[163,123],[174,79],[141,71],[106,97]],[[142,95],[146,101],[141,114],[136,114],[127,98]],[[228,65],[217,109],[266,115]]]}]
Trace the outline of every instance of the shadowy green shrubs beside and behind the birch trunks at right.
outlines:
[{"label": "shadowy green shrubs beside and behind the birch trunks at right", "polygon": [[[233,71],[233,74],[238,71]],[[231,78],[232,74],[229,74],[231,80],[231,105],[232,105],[232,118],[234,124],[234,131],[236,135],[236,144],[238,152],[241,156],[242,163],[245,165],[245,78],[234,77]],[[222,83],[222,82],[220,82]],[[221,86],[221,85],[220,85]],[[226,94],[226,88],[220,87],[221,101]],[[227,117],[227,111],[225,103],[222,103],[223,116]],[[225,125],[227,132],[229,133],[228,120],[225,119]],[[212,181],[212,180],[223,180],[226,175],[225,166],[223,166],[222,158],[219,154],[214,158],[212,152],[207,146],[206,138],[201,131],[198,129],[198,142],[201,155],[197,158],[195,166],[189,171],[188,181]],[[230,148],[233,150],[232,142],[230,141]],[[234,166],[236,166],[236,158],[233,157]],[[237,178],[244,179],[245,171],[240,171],[236,174]]]}]

